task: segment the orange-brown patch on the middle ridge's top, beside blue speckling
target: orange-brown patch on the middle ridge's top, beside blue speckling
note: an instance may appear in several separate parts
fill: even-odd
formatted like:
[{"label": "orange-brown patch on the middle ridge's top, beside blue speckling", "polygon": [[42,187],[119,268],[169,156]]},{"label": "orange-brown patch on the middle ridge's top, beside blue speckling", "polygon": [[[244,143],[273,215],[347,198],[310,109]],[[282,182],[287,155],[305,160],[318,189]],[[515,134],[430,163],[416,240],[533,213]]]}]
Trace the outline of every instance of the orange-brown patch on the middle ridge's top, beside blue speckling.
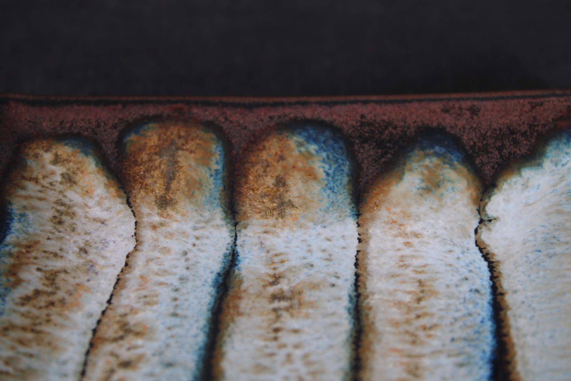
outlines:
[{"label": "orange-brown patch on the middle ridge's top, beside blue speckling", "polygon": [[238,222],[255,217],[270,224],[297,224],[302,215],[308,222],[321,219],[321,159],[309,143],[288,131],[278,131],[252,147],[236,184]]}]

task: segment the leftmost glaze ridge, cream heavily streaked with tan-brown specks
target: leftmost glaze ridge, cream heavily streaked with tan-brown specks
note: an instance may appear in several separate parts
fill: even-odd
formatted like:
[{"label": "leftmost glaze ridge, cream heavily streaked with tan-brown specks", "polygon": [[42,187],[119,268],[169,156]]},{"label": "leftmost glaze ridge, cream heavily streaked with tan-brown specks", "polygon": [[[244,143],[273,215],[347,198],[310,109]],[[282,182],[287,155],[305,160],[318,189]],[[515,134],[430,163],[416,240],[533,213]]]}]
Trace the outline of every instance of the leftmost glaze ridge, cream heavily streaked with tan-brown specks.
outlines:
[{"label": "leftmost glaze ridge, cream heavily streaked with tan-brown specks", "polygon": [[[0,246],[0,379],[77,380],[135,220],[89,147],[23,146],[5,187]],[[85,151],[88,151],[87,153]]]}]

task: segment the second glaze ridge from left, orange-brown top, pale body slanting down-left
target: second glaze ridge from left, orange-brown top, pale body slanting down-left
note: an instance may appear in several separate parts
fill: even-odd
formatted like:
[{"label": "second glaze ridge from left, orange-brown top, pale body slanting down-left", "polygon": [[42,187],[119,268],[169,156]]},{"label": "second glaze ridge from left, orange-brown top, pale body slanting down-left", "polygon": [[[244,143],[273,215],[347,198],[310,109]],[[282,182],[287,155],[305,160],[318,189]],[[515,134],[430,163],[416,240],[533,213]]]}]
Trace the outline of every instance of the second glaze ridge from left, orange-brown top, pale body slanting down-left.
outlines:
[{"label": "second glaze ridge from left, orange-brown top, pale body slanting down-left", "polygon": [[124,139],[122,169],[137,246],[84,379],[197,379],[234,243],[222,142],[199,125],[151,123]]}]

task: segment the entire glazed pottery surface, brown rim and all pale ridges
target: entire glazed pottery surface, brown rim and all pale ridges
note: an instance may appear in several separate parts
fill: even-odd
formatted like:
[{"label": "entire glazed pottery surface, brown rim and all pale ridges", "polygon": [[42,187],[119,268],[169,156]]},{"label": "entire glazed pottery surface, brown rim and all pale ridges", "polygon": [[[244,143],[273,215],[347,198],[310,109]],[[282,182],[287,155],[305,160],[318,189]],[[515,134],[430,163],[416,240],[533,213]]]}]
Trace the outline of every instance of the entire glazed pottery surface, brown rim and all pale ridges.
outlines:
[{"label": "entire glazed pottery surface, brown rim and all pale ridges", "polygon": [[0,95],[0,380],[571,379],[571,94]]}]

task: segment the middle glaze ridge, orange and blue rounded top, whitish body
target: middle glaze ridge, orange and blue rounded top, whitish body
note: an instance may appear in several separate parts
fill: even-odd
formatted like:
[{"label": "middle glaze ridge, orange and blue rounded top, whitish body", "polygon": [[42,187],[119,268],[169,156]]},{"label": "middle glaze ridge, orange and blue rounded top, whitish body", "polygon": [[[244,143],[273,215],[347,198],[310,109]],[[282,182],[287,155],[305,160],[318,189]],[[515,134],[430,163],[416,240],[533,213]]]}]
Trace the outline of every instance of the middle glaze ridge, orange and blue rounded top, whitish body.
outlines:
[{"label": "middle glaze ridge, orange and blue rounded top, whitish body", "polygon": [[343,141],[274,131],[237,179],[236,267],[215,378],[344,380],[352,364],[356,213]]}]

